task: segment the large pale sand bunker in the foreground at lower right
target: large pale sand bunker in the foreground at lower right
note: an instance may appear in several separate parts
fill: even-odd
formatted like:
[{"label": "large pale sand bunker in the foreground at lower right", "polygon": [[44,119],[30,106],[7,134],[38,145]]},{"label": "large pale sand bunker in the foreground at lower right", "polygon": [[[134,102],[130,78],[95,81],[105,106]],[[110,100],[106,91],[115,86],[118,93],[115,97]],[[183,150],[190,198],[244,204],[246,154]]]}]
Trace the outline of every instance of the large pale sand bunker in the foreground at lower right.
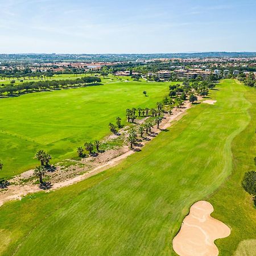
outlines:
[{"label": "large pale sand bunker in the foreground at lower right", "polygon": [[172,241],[172,246],[180,256],[216,256],[218,248],[214,240],[228,237],[230,229],[221,221],[210,216],[213,206],[207,201],[192,205],[184,218],[180,232]]}]

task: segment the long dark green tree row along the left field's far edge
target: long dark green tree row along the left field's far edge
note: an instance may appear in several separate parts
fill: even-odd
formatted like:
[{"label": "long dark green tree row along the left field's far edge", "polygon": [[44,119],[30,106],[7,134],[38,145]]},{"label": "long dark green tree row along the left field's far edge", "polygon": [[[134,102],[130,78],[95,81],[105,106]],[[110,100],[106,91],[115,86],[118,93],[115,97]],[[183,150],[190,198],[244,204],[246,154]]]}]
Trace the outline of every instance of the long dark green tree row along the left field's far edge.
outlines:
[{"label": "long dark green tree row along the left field's far edge", "polygon": [[19,85],[6,85],[0,87],[0,95],[7,93],[7,95],[13,95],[13,93],[22,93],[22,92],[34,92],[38,90],[46,89],[56,89],[56,88],[67,88],[68,86],[76,85],[88,85],[100,83],[100,77],[96,76],[85,76],[81,79],[75,80],[51,80],[51,81],[38,81],[38,82],[23,82]]}]

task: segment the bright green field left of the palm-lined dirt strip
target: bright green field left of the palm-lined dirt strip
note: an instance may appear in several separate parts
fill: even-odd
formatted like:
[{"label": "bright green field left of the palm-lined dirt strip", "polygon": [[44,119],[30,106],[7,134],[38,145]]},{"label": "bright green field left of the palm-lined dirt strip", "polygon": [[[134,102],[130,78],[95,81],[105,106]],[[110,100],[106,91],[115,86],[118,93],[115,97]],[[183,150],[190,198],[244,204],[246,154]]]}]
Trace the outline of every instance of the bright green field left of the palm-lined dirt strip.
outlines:
[{"label": "bright green field left of the palm-lined dirt strip", "polygon": [[167,92],[167,83],[120,81],[0,99],[0,159],[5,165],[0,177],[34,167],[40,148],[54,162],[75,156],[77,146],[108,135],[109,122],[117,116],[125,123],[126,108],[155,107]]}]

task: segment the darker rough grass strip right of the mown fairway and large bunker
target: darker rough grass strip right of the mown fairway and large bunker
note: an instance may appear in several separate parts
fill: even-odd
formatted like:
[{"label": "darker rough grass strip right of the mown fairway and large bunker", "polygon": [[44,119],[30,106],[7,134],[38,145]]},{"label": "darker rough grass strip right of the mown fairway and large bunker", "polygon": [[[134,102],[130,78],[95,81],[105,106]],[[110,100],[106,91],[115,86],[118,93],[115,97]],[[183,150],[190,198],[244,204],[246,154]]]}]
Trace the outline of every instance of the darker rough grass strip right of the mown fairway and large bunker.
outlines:
[{"label": "darker rough grass strip right of the mown fairway and large bunker", "polygon": [[250,102],[250,123],[232,143],[232,176],[209,197],[215,208],[212,215],[221,218],[232,228],[228,238],[216,242],[221,255],[229,255],[229,251],[237,247],[237,256],[256,255],[256,207],[253,206],[252,197],[241,186],[245,172],[256,170],[256,90],[247,88],[244,96]]}]

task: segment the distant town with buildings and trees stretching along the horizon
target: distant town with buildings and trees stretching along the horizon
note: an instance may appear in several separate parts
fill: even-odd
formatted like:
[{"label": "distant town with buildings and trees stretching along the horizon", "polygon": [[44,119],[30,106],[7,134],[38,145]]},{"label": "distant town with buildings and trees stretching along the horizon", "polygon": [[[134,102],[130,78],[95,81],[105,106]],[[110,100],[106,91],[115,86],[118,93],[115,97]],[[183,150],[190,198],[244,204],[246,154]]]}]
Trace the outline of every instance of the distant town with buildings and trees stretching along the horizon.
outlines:
[{"label": "distant town with buildings and trees stretching along the horizon", "polygon": [[181,57],[171,58],[164,54],[86,55],[89,61],[77,60],[85,58],[85,55],[0,55],[0,80],[10,80],[14,84],[15,80],[47,79],[53,75],[71,73],[103,76],[111,73],[115,76],[132,76],[135,80],[142,77],[148,81],[206,80],[210,76],[213,80],[213,77],[222,79],[249,75],[255,80],[255,53],[191,53],[191,57],[187,57],[187,53],[182,54]]}]

